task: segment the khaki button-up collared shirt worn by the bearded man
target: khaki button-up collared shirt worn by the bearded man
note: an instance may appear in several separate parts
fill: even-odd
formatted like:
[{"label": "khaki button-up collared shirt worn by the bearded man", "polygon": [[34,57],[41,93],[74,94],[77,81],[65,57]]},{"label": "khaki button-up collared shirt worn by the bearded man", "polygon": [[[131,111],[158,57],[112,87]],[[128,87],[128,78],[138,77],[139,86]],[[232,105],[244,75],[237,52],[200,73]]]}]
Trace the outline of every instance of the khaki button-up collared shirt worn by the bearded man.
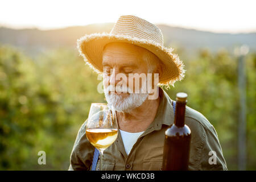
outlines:
[{"label": "khaki button-up collared shirt worn by the bearded man", "polygon": [[[138,138],[129,155],[125,152],[122,137],[118,131],[115,142],[104,151],[103,170],[158,171],[162,167],[164,131],[174,122],[174,109],[171,98],[162,89],[159,89],[159,97],[160,104],[154,121]],[[191,129],[189,170],[228,170],[216,130],[207,118],[186,106],[185,124]],[[86,121],[77,134],[69,170],[91,169],[94,147],[86,138],[85,130]],[[216,156],[216,163],[214,156]],[[99,162],[100,160],[98,160],[96,169],[99,167]]]}]

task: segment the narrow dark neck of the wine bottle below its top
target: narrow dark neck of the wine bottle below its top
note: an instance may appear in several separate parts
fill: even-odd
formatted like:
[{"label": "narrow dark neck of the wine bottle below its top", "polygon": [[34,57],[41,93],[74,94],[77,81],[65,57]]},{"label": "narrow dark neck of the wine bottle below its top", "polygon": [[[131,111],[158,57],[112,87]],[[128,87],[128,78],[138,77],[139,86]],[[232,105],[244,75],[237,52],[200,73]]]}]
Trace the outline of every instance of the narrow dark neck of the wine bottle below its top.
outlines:
[{"label": "narrow dark neck of the wine bottle below its top", "polygon": [[183,127],[185,123],[185,107],[187,102],[176,101],[174,124]]}]

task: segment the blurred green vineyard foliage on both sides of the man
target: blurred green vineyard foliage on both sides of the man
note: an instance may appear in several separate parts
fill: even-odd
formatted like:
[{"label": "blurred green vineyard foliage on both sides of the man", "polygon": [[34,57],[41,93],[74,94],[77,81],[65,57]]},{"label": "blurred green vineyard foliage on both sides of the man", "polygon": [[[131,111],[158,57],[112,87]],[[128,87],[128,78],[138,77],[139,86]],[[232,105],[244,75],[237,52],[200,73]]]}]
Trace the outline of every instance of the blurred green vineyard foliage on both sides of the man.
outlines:
[{"label": "blurred green vineyard foliage on both sides of the man", "polygon": [[[256,169],[255,61],[246,60],[247,169]],[[167,90],[188,93],[188,106],[216,128],[229,169],[237,169],[239,97],[237,61],[225,50],[201,50],[184,60],[186,76]],[[67,170],[77,131],[92,102],[105,102],[97,92],[96,73],[77,51],[57,49],[36,59],[11,47],[0,47],[0,169]],[[38,164],[46,152],[47,165]]]}]

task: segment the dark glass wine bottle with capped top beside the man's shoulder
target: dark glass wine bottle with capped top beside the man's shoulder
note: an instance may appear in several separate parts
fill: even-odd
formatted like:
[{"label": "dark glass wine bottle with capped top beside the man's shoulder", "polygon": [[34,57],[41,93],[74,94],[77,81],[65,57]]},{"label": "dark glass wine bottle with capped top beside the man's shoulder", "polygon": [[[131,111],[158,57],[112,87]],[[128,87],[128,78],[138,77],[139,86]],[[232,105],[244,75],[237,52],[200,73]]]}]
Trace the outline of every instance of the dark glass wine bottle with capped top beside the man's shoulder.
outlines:
[{"label": "dark glass wine bottle with capped top beside the man's shoulder", "polygon": [[187,171],[191,130],[185,125],[185,106],[187,94],[176,94],[176,107],[174,123],[166,130],[163,151],[164,171]]}]

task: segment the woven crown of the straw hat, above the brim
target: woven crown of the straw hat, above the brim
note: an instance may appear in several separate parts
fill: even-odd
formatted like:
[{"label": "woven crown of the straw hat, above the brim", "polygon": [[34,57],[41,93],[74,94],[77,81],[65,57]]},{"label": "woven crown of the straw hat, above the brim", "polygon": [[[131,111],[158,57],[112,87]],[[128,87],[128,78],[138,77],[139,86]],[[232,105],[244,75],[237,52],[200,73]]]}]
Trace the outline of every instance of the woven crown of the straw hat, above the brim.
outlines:
[{"label": "woven crown of the straw hat, above the brim", "polygon": [[137,16],[121,16],[114,24],[112,35],[129,35],[139,39],[152,40],[163,46],[163,34],[160,28]]}]

